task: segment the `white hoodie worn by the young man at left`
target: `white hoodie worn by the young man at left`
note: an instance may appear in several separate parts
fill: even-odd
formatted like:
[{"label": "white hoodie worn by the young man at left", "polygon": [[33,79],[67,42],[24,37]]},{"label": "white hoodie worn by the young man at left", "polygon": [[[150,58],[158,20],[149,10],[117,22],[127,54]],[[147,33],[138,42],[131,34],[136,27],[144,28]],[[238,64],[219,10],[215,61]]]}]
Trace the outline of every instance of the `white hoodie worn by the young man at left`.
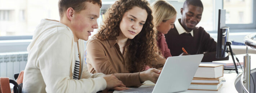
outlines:
[{"label": "white hoodie worn by the young man at left", "polygon": [[[84,55],[84,42],[79,39],[80,54]],[[24,72],[24,93],[95,93],[106,88],[102,73],[87,71],[81,56],[81,79],[73,78],[75,42],[72,31],[57,21],[42,19],[33,40],[28,45],[28,62]]]}]

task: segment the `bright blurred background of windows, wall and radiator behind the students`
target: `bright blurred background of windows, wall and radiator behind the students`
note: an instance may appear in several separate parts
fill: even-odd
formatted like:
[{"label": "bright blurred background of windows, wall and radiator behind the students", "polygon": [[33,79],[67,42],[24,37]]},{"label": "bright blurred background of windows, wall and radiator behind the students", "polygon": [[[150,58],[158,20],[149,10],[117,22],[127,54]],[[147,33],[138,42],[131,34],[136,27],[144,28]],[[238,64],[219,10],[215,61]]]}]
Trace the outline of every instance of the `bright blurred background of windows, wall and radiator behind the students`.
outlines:
[{"label": "bright blurred background of windows, wall and radiator behind the students", "polygon": [[[116,0],[102,0],[102,24],[105,11]],[[153,3],[155,0],[149,0]],[[178,12],[185,0],[167,0]],[[204,10],[202,26],[217,41],[218,9],[226,9],[226,26],[230,27],[229,40],[233,43],[236,54],[244,54],[244,36],[256,32],[256,2],[253,0],[202,0]],[[27,63],[27,46],[41,19],[59,20],[58,0],[0,0],[0,77],[13,79],[14,73],[25,69]],[[92,34],[97,33],[97,29]],[[89,37],[91,38],[91,37]],[[86,44],[86,41],[85,41]],[[250,51],[249,53],[255,53]]]}]

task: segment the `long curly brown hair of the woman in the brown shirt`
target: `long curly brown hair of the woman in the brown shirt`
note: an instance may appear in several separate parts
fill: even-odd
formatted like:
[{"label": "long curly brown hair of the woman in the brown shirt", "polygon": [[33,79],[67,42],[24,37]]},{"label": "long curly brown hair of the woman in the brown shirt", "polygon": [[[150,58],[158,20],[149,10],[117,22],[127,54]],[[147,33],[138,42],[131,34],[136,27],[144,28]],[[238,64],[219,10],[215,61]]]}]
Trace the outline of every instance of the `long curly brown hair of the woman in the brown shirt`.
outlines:
[{"label": "long curly brown hair of the woman in the brown shirt", "polygon": [[[141,32],[130,42],[127,64],[130,73],[145,70],[145,66],[152,67],[152,61],[158,56],[156,44],[156,29],[154,28],[152,9],[147,0],[118,0],[106,11],[106,18],[103,21],[99,33],[94,35],[100,40],[116,40],[120,33],[120,22],[126,11],[137,6],[147,11],[146,23]],[[122,33],[122,32],[121,32]],[[158,66],[157,66],[158,67]],[[156,67],[155,67],[156,68]]]}]

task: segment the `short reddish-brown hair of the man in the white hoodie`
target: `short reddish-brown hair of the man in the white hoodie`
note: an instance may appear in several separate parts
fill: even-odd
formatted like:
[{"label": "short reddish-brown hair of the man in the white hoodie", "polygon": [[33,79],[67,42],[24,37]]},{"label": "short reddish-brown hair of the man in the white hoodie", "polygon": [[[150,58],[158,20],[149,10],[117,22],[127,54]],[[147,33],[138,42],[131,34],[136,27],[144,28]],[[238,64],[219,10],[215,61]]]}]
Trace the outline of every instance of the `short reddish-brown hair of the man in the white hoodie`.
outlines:
[{"label": "short reddish-brown hair of the man in the white hoodie", "polygon": [[86,8],[85,3],[98,4],[101,8],[101,0],[59,0],[59,16],[62,18],[63,13],[66,12],[68,8],[73,8],[76,12],[80,12]]}]

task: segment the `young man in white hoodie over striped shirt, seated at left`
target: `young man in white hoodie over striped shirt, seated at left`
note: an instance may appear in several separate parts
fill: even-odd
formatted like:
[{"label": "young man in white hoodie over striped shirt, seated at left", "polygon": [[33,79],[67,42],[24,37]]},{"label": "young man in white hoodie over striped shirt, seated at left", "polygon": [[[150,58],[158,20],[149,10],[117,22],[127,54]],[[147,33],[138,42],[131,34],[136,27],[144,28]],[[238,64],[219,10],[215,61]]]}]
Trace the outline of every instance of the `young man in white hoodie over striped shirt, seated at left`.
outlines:
[{"label": "young man in white hoodie over striped shirt, seated at left", "polygon": [[114,75],[87,72],[84,41],[97,29],[101,0],[59,0],[60,21],[42,19],[28,46],[24,93],[95,93],[126,89]]}]

